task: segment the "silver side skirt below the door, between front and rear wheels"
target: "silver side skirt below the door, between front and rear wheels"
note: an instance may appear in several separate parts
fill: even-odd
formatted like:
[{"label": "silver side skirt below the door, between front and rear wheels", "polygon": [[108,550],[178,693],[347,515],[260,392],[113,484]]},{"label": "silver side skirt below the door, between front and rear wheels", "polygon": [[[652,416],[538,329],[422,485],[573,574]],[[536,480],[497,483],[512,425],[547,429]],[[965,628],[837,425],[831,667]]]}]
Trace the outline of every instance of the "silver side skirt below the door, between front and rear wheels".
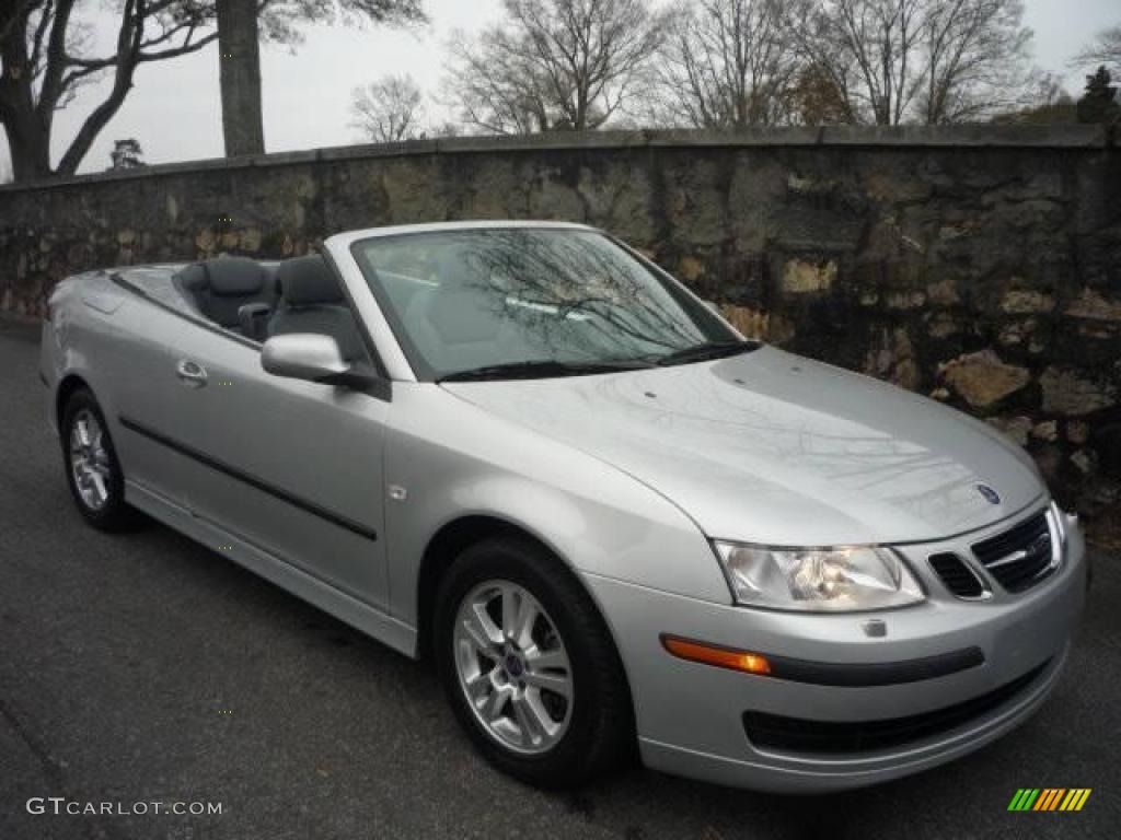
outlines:
[{"label": "silver side skirt below the door, between front and rear wheels", "polygon": [[361,633],[416,659],[416,628],[340,591],[209,520],[195,516],[185,507],[135,482],[126,479],[124,500],[152,519],[214,551],[219,545],[231,545],[232,549],[223,551],[222,557],[229,557],[239,566],[287,589]]}]

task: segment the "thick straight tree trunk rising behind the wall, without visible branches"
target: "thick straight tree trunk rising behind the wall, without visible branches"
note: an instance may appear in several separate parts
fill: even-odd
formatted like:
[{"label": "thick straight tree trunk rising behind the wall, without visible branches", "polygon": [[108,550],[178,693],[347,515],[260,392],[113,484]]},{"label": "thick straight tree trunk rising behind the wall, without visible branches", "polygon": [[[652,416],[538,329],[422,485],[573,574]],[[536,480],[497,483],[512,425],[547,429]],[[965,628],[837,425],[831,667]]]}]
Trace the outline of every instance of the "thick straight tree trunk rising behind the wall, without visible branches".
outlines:
[{"label": "thick straight tree trunk rising behind the wall, without visible branches", "polygon": [[257,0],[217,0],[219,81],[225,156],[265,151]]}]

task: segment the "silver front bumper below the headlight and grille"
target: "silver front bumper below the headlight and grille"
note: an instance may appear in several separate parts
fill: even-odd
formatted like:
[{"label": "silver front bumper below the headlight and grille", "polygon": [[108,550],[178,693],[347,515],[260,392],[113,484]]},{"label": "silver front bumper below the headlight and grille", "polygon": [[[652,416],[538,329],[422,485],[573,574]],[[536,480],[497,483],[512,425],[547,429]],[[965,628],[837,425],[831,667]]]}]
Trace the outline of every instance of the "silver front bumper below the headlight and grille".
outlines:
[{"label": "silver front bumper below the headlight and grille", "polygon": [[[1003,525],[1007,528],[1007,523]],[[1001,526],[961,538],[983,539]],[[961,540],[958,542],[958,548]],[[757,790],[826,792],[888,781],[948,762],[1026,720],[1066,661],[1082,612],[1086,563],[1072,528],[1062,568],[1035,588],[985,601],[954,598],[924,562],[945,544],[905,553],[929,592],[920,605],[847,615],[794,614],[711,604],[585,575],[620,647],[643,762],[654,768]],[[715,562],[715,561],[714,561]],[[877,618],[886,635],[870,636]],[[814,684],[713,668],[671,656],[661,634],[816,663],[908,663],[980,648],[981,664],[895,684]],[[869,669],[859,669],[869,671]],[[867,681],[865,681],[867,682]],[[993,698],[982,702],[983,698]],[[753,744],[747,712],[825,724],[831,731],[898,719],[938,719],[912,739],[859,749]]]}]

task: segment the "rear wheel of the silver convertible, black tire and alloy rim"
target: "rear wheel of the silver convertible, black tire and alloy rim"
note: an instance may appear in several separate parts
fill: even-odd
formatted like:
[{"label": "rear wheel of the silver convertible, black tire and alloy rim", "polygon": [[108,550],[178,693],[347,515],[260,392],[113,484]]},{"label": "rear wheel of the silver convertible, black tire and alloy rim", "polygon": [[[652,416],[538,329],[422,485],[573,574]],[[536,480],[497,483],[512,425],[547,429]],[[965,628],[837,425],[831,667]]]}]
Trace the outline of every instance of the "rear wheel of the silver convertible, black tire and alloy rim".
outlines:
[{"label": "rear wheel of the silver convertible, black tire and alloy rim", "polygon": [[63,409],[59,428],[66,483],[78,512],[101,531],[128,531],[139,512],[124,502],[124,473],[93,394],[78,389]]}]

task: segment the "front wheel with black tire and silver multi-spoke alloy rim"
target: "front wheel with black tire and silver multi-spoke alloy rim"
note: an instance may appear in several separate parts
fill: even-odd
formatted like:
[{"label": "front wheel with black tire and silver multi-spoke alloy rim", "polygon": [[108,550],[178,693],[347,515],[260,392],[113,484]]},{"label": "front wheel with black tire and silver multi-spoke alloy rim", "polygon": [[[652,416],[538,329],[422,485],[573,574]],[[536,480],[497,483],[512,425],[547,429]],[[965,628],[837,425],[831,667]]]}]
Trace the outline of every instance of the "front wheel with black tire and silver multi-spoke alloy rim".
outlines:
[{"label": "front wheel with black tire and silver multi-spoke alloy rim", "polygon": [[518,536],[467,548],[441,581],[433,643],[460,724],[499,769],[574,787],[633,747],[630,692],[572,572]]}]

